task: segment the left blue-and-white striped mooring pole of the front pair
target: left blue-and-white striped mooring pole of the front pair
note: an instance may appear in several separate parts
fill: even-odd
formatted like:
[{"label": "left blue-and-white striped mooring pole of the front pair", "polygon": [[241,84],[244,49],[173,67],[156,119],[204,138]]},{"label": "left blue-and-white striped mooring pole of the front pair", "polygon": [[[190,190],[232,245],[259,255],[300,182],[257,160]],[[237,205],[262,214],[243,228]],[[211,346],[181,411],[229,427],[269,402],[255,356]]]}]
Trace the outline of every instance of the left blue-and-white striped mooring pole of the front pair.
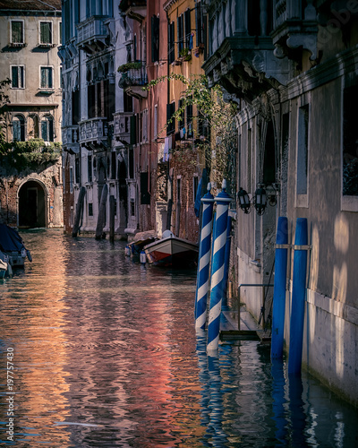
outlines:
[{"label": "left blue-and-white striped mooring pole of the front pair", "polygon": [[208,193],[201,198],[202,225],[200,233],[199,265],[195,295],[195,328],[204,329],[206,323],[207,301],[209,290],[209,269],[211,253],[211,228],[214,209],[214,196],[210,193],[211,184],[208,184]]}]

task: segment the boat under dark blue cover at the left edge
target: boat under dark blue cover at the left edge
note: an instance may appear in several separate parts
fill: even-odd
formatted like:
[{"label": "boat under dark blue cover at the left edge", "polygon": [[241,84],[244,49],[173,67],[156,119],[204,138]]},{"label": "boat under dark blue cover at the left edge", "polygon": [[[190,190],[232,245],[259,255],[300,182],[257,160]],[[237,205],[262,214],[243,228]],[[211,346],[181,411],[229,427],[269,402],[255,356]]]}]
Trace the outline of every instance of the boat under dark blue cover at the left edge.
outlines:
[{"label": "boat under dark blue cover at the left edge", "polygon": [[18,231],[6,224],[0,224],[0,250],[6,255],[7,263],[14,268],[23,267],[26,257],[32,261],[30,251],[26,249]]}]

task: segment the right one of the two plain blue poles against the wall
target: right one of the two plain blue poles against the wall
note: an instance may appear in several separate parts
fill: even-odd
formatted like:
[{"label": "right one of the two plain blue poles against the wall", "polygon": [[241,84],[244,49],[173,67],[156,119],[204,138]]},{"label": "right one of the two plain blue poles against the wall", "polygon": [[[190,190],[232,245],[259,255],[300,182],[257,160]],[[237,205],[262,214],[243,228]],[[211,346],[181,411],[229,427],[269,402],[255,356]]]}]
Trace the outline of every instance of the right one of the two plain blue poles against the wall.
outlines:
[{"label": "right one of the two plain blue poles against the wall", "polygon": [[288,354],[288,373],[294,375],[301,374],[302,366],[307,243],[307,219],[297,218],[294,237],[294,279],[290,320],[290,348]]}]

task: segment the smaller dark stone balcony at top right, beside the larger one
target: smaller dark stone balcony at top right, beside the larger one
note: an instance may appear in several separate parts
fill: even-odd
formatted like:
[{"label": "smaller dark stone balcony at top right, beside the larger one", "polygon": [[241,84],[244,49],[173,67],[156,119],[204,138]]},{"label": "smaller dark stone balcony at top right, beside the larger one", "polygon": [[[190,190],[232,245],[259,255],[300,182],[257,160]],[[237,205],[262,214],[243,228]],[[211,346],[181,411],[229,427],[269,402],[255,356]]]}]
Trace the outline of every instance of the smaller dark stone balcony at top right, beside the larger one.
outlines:
[{"label": "smaller dark stone balcony at top right, beside the larger one", "polygon": [[317,12],[311,1],[303,9],[302,2],[278,0],[275,6],[275,28],[272,40],[277,58],[288,57],[298,61],[302,49],[311,52],[311,61],[317,59]]}]

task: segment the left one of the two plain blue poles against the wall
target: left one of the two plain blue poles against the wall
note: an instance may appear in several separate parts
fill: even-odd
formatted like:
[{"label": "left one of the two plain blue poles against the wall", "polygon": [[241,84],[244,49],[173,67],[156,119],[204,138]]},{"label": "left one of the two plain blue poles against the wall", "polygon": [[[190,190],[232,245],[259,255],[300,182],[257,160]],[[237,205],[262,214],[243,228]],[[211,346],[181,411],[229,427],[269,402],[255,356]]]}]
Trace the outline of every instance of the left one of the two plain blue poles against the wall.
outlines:
[{"label": "left one of the two plain blue poles against the wall", "polygon": [[282,358],[284,351],[287,248],[279,246],[288,244],[288,224],[283,216],[278,218],[276,244],[271,359]]}]

